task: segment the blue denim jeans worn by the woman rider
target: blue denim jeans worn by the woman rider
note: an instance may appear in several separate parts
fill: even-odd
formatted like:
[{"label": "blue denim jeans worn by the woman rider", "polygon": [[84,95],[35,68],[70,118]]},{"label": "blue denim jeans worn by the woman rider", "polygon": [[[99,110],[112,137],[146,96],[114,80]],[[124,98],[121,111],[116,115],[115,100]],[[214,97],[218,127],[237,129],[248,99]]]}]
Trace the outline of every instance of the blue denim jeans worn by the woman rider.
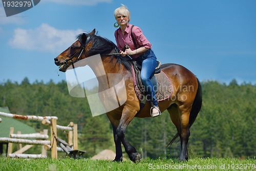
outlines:
[{"label": "blue denim jeans worn by the woman rider", "polygon": [[151,100],[153,105],[158,106],[156,93],[151,78],[154,76],[154,71],[157,65],[157,58],[154,52],[149,49],[144,54],[136,59],[141,64],[141,82],[147,93],[146,99]]}]

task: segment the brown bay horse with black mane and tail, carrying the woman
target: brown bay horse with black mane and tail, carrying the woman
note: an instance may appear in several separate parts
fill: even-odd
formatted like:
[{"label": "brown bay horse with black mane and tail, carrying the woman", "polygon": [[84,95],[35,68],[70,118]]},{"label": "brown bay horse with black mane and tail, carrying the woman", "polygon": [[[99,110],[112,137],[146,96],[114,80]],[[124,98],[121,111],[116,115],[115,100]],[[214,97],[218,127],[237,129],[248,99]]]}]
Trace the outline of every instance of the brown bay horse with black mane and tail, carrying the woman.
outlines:
[{"label": "brown bay horse with black mane and tail, carrying the woman", "polygon": [[[113,53],[113,51],[116,53]],[[67,50],[54,58],[54,61],[55,65],[59,66],[59,71],[66,72],[68,67],[74,65],[75,62],[96,54],[100,54],[105,73],[122,74],[126,87],[127,99],[124,104],[106,113],[113,127],[116,148],[114,161],[122,161],[123,159],[122,143],[129,158],[133,162],[139,162],[140,154],[125,138],[125,129],[134,117],[151,117],[151,105],[150,102],[146,102],[144,108],[140,109],[140,101],[134,87],[129,86],[129,84],[134,83],[131,72],[131,59],[120,56],[117,46],[112,41],[95,35],[94,29],[91,33],[79,34],[77,40]],[[93,71],[97,75],[97,69]],[[202,88],[197,77],[183,66],[165,63],[161,66],[161,71],[172,82],[173,92],[172,97],[159,101],[158,105],[161,112],[168,111],[170,119],[176,126],[178,133],[169,144],[172,144],[178,137],[180,138],[181,153],[179,160],[185,161],[188,160],[187,143],[190,135],[189,128],[194,123],[202,106]],[[105,100],[108,100],[108,97]]]}]

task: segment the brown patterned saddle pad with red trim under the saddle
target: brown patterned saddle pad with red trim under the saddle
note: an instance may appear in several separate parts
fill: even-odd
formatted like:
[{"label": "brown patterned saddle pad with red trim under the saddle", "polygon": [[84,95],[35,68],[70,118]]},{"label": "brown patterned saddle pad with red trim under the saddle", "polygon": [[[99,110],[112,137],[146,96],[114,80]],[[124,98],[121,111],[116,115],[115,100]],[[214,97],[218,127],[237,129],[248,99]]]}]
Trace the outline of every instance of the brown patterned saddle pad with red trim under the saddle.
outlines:
[{"label": "brown patterned saddle pad with red trim under the saddle", "polygon": [[[138,80],[137,80],[138,78],[136,78],[134,66],[132,66],[132,74],[133,74],[133,83],[134,83],[134,89],[135,89],[136,95],[140,101],[143,101],[144,94],[143,94],[143,91],[141,91],[141,86],[139,86],[141,83],[138,83]],[[157,92],[156,92],[157,101],[163,101],[170,98],[170,96],[172,96],[173,94],[173,87],[167,75],[163,71],[161,71],[159,74],[155,74],[155,76],[158,82]]]}]

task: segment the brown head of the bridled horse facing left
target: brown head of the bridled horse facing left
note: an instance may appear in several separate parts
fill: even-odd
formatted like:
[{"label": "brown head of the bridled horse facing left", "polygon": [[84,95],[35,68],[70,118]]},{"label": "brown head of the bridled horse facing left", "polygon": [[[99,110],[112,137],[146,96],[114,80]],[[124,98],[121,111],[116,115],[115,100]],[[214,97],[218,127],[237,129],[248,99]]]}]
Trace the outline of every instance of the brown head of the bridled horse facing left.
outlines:
[{"label": "brown head of the bridled horse facing left", "polygon": [[88,52],[92,48],[92,35],[95,35],[95,29],[89,34],[82,33],[67,50],[54,58],[55,65],[59,66],[59,71],[66,72],[73,63],[88,57]]}]

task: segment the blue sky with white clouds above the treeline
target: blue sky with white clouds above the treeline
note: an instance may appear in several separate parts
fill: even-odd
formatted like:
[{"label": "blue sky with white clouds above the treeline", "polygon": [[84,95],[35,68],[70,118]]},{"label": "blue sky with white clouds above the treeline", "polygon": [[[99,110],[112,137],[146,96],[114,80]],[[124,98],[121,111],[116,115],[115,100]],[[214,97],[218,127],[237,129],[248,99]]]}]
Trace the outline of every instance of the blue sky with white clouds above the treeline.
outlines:
[{"label": "blue sky with white clouds above the treeline", "polygon": [[6,17],[0,4],[0,82],[28,77],[65,80],[54,58],[82,31],[94,28],[115,42],[113,12],[131,11],[161,63],[178,63],[201,81],[256,84],[256,1],[254,0],[42,0]]}]

